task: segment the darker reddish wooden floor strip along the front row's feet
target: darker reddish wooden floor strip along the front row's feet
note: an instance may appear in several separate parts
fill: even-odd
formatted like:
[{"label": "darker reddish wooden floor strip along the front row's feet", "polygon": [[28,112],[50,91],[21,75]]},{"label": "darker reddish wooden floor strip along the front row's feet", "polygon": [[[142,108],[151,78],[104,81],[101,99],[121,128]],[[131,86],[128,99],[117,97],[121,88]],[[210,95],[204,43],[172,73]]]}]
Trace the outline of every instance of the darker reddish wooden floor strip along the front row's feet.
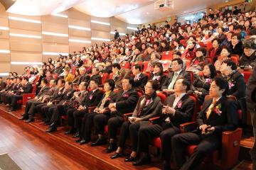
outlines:
[{"label": "darker reddish wooden floor strip along the front row's feet", "polygon": [[42,123],[37,120],[34,123],[24,123],[18,120],[24,108],[18,111],[7,112],[4,106],[0,106],[0,116],[6,120],[10,120],[15,123],[22,130],[30,132],[31,135],[40,138],[52,145],[53,149],[65,154],[65,156],[73,159],[74,162],[78,162],[87,169],[159,169],[159,162],[146,166],[132,166],[130,162],[124,162],[124,158],[110,159],[111,154],[105,154],[102,152],[107,145],[100,147],[91,147],[90,144],[79,145],[74,142],[74,139],[70,135],[64,135],[64,128],[58,128],[57,132],[46,133],[46,125],[43,127]]}]

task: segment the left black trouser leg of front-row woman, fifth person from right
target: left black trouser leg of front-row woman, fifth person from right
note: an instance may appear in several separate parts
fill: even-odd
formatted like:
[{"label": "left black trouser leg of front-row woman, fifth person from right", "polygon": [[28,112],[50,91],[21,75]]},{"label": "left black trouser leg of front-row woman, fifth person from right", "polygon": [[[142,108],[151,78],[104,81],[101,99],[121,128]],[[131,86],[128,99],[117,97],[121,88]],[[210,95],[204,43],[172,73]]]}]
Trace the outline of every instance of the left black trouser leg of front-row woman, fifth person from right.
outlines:
[{"label": "left black trouser leg of front-row woman, fifth person from right", "polygon": [[80,128],[80,138],[90,141],[91,140],[91,135],[92,135],[92,126],[93,126],[93,118],[95,115],[98,115],[99,113],[89,113],[85,114],[84,117],[82,118],[82,125]]}]

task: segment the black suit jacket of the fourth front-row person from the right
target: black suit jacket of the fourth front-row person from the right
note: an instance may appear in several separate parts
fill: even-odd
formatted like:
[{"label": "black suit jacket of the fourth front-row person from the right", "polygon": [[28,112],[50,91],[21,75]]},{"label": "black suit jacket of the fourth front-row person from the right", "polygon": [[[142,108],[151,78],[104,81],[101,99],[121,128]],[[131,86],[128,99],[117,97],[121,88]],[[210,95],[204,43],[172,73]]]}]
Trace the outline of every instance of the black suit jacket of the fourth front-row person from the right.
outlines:
[{"label": "black suit jacket of the fourth front-row person from the right", "polygon": [[126,93],[124,91],[119,91],[114,97],[112,103],[116,103],[117,115],[122,116],[124,113],[131,113],[137,105],[138,92],[134,89],[130,89]]}]

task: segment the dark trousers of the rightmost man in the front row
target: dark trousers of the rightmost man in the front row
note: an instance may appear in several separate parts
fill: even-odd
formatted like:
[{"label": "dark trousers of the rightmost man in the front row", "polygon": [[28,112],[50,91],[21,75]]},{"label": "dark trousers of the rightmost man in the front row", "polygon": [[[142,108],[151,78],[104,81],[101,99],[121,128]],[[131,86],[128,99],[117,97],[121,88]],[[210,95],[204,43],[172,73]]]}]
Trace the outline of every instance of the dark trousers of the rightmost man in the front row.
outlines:
[{"label": "dark trousers of the rightmost man in the front row", "polygon": [[[186,148],[189,145],[197,145],[193,154],[186,160]],[[186,132],[174,135],[171,139],[171,147],[174,154],[174,160],[182,170],[196,169],[203,162],[206,155],[218,149],[221,146],[221,135],[203,136],[201,134]]]}]

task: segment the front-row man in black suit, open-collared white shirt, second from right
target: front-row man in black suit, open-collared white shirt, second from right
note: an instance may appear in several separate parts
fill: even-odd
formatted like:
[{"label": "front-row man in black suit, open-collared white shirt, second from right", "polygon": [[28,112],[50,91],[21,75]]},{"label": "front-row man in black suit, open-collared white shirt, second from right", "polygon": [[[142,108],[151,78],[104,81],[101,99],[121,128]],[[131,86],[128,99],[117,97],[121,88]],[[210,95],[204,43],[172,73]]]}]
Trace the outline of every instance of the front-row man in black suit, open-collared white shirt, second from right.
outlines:
[{"label": "front-row man in black suit, open-collared white shirt, second from right", "polygon": [[170,166],[171,160],[171,137],[180,132],[179,126],[192,120],[195,103],[186,94],[190,83],[180,78],[174,86],[174,94],[166,99],[166,105],[160,114],[159,124],[148,125],[139,130],[139,148],[142,152],[141,159],[135,161],[134,165],[142,165],[150,162],[149,145],[150,140],[155,137],[161,138],[161,159],[164,167]]}]

